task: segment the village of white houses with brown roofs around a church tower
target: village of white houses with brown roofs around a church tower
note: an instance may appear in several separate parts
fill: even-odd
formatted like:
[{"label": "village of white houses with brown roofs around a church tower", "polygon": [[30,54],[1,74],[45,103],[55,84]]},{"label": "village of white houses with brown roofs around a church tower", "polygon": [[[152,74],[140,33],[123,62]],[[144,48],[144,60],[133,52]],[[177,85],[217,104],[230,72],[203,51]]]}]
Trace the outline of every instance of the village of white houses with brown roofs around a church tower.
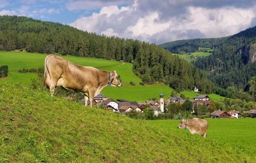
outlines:
[{"label": "village of white houses with brown roofs around a church tower", "polygon": [[[198,92],[198,89],[195,87],[194,92]],[[171,102],[183,104],[186,99],[183,99],[179,96],[172,96],[169,97],[167,100],[164,100],[163,93],[160,94],[160,100],[148,100],[143,103],[138,103],[137,101],[127,101],[125,99],[116,99],[113,100],[111,98],[108,98],[104,96],[103,93],[99,93],[97,96],[94,97],[93,105],[96,107],[102,106],[106,110],[110,110],[113,112],[117,112],[119,114],[127,114],[130,113],[132,110],[136,112],[143,112],[146,105],[152,107],[154,110],[154,115],[157,116],[159,114],[164,114],[164,108],[168,106]],[[72,99],[74,98],[73,95],[70,95],[66,99]],[[189,101],[193,104],[193,109],[191,114],[195,114],[195,105],[203,105],[209,109],[209,105],[211,103],[209,97],[207,95],[196,95],[193,99],[190,99]],[[81,99],[79,101],[81,104],[85,104],[84,99]],[[88,105],[90,105],[90,101],[88,101]],[[256,117],[256,110],[251,109],[249,111],[244,111],[244,113],[247,114],[247,116]],[[211,112],[210,114],[211,118],[242,118],[243,114],[236,110],[230,110],[228,112],[225,112],[223,110],[215,110]]]}]

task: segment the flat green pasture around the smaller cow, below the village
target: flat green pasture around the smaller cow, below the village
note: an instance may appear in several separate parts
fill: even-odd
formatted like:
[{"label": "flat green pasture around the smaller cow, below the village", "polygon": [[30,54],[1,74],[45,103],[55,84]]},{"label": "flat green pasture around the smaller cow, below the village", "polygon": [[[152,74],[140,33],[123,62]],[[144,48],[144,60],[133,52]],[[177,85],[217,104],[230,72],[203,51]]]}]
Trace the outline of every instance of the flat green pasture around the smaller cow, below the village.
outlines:
[{"label": "flat green pasture around the smaller cow, below the village", "polygon": [[[256,152],[256,118],[209,118],[205,120],[209,124],[207,138],[224,141],[234,146],[244,146],[244,148]],[[176,129],[183,134],[190,134],[188,129],[177,129],[180,120],[153,120],[147,122],[166,129]]]}]

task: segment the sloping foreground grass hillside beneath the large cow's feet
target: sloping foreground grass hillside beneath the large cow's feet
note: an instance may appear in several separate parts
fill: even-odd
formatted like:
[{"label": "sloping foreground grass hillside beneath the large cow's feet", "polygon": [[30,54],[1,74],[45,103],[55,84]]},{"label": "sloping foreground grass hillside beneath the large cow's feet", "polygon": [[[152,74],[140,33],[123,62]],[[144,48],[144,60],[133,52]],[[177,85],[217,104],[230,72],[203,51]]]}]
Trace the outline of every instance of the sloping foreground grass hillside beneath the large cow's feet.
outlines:
[{"label": "sloping foreground grass hillside beneath the large cow's feet", "polygon": [[[0,162],[255,162],[250,150],[0,81]],[[236,157],[233,156],[234,153]]]}]

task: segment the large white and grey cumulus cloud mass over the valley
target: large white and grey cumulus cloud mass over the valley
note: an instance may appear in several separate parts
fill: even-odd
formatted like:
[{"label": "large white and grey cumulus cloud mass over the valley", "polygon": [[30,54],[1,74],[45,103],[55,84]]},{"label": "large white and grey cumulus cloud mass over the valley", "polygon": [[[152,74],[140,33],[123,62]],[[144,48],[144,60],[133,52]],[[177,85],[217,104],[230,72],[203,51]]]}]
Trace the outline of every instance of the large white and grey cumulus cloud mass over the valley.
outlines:
[{"label": "large white and grey cumulus cloud mass over the valley", "polygon": [[255,17],[253,0],[242,4],[240,0],[135,0],[127,7],[104,6],[99,13],[80,17],[69,25],[98,34],[164,43],[236,34],[255,25]]}]

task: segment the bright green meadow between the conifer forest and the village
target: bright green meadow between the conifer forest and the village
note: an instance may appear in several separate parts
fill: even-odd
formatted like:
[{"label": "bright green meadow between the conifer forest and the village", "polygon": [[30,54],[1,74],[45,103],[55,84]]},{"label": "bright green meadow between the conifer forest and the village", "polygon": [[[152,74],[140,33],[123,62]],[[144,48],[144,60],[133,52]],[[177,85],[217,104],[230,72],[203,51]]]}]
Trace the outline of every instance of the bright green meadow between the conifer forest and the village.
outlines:
[{"label": "bright green meadow between the conifer forest and the village", "polygon": [[[31,84],[32,78],[36,78],[36,73],[19,73],[20,69],[38,68],[44,66],[44,59],[47,54],[41,53],[25,53],[25,52],[0,52],[0,65],[8,65],[9,76],[5,79],[6,81],[17,83],[22,82],[23,84]],[[131,63],[123,63],[115,60],[106,59],[95,59],[95,58],[80,58],[74,56],[61,56],[70,62],[81,66],[92,66],[99,68],[100,70],[113,71],[120,75],[122,80],[122,87],[111,87],[107,86],[102,90],[102,93],[113,99],[126,99],[129,101],[144,102],[148,98],[159,98],[161,91],[164,94],[164,98],[167,99],[173,89],[165,84],[145,84],[140,85],[142,82],[138,76],[132,71]],[[134,82],[135,86],[132,86],[130,82]],[[192,91],[185,91],[183,94],[186,97],[193,98],[198,93]],[[209,95],[213,101],[216,101],[224,97],[211,94]],[[217,98],[216,98],[217,97]]]}]

